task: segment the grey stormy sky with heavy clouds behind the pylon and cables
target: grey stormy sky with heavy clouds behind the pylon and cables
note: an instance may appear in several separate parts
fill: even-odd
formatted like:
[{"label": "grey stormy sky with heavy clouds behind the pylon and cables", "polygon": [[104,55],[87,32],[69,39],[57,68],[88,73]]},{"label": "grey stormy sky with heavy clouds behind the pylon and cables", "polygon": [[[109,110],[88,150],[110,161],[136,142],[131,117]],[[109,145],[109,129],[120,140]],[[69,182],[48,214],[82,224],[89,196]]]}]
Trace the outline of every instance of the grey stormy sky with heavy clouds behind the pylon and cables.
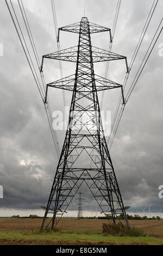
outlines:
[{"label": "grey stormy sky with heavy clouds behind the pylon and cables", "polygon": [[[55,0],[58,27],[79,22],[84,16],[84,2]],[[17,1],[12,3],[27,38]],[[153,0],[122,0],[112,52],[127,56],[128,63],[152,3]],[[57,51],[51,1],[23,0],[23,4],[41,61],[42,55]],[[115,0],[87,0],[85,15],[90,22],[112,28],[116,5]],[[126,91],[159,25],[162,10],[163,1],[160,0],[130,72]],[[42,100],[3,0],[0,22],[0,43],[3,45],[3,56],[0,57],[0,185],[4,189],[4,198],[0,199],[0,216],[10,216],[13,209],[23,210],[26,214],[46,205],[58,157]],[[27,43],[30,46],[28,38]],[[162,34],[126,105],[110,151],[124,205],[130,205],[133,211],[149,204],[154,204],[151,211],[163,211],[163,199],[158,197],[158,187],[163,184],[163,56],[159,56],[161,43]],[[60,34],[61,49],[77,44],[77,35],[67,32]],[[109,33],[92,35],[92,45],[108,50]],[[32,52],[31,48],[30,51]],[[95,73],[104,76],[105,66],[106,63],[96,64]],[[62,62],[62,68],[64,76],[71,75],[74,74],[75,64]],[[39,70],[37,71],[39,75]],[[125,72],[125,62],[111,63],[108,78],[123,84]],[[59,62],[46,61],[44,75],[46,83],[60,79]],[[63,111],[62,92],[54,91],[49,90],[52,111]],[[68,106],[71,93],[65,92],[65,95]],[[106,91],[104,94],[102,110],[110,110],[111,118],[114,117],[119,96],[119,89],[114,92]],[[99,101],[100,99],[99,93]],[[57,135],[61,148],[65,131],[57,131]],[[87,211],[90,210],[88,197],[89,195],[84,194]],[[92,204],[95,205],[95,202]]]}]

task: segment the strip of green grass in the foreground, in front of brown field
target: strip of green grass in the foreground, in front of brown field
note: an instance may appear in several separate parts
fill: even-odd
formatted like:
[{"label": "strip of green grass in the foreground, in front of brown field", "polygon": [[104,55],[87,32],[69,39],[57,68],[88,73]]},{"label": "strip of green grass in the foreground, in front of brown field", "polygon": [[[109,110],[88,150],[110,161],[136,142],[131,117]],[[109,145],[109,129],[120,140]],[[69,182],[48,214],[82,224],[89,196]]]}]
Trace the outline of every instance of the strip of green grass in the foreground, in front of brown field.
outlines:
[{"label": "strip of green grass in the foreground, in front of brown field", "polygon": [[[49,240],[49,241],[69,241],[72,245],[76,244],[76,242],[85,242],[86,244],[98,242],[103,242],[103,244],[110,243],[112,245],[163,245],[162,238],[156,237],[129,237],[129,236],[112,236],[105,235],[103,233],[88,233],[88,234],[79,234],[79,233],[40,233],[37,232],[17,232],[17,231],[4,231],[0,232],[0,239],[24,239],[24,240]],[[60,243],[61,244],[61,243]]]}]

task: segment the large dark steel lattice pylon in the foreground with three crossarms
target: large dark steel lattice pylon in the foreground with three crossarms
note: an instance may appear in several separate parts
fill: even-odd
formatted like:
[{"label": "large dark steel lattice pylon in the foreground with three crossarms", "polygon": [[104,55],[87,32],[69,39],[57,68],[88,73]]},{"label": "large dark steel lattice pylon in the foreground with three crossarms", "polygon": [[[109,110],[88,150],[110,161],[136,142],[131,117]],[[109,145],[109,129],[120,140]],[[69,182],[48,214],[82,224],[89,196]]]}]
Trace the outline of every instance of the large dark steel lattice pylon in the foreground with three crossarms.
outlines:
[{"label": "large dark steel lattice pylon in the foreground with three crossarms", "polygon": [[[98,91],[120,87],[123,96],[123,89],[122,85],[95,75],[93,70],[93,62],[126,60],[126,57],[91,45],[92,33],[108,31],[111,40],[111,32],[109,28],[89,22],[87,17],[59,28],[60,31],[78,33],[79,42],[78,46],[42,57],[41,72],[43,59],[51,58],[76,62],[76,73],[46,87],[45,104],[49,86],[72,91],[72,100],[65,141],[41,228],[57,225],[84,182],[105,216],[110,215],[115,223],[116,217],[122,214],[129,225],[103,132],[97,95]],[[48,213],[53,217],[47,218]]]}]

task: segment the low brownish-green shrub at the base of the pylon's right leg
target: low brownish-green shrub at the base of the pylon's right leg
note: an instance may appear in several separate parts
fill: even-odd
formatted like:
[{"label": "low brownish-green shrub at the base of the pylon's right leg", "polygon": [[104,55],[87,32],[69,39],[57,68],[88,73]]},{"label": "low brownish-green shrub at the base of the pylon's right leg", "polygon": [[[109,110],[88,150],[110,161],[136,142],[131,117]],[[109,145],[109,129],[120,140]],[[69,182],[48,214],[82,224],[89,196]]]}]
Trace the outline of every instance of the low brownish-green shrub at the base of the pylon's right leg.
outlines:
[{"label": "low brownish-green shrub at the base of the pylon's right leg", "polygon": [[143,230],[136,229],[135,227],[128,228],[121,222],[117,224],[103,223],[103,233],[114,236],[146,236]]}]

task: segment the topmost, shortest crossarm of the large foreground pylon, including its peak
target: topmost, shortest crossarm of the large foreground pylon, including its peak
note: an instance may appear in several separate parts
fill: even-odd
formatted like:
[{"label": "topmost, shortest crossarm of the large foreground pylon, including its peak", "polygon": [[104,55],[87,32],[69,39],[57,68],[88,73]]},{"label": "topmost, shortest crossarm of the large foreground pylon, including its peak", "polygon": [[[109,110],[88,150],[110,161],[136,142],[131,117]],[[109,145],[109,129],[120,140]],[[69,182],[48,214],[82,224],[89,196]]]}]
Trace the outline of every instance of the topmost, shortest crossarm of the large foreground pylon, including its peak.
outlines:
[{"label": "topmost, shortest crossarm of the large foreground pylon, including its peak", "polygon": [[80,22],[76,22],[64,27],[60,27],[59,30],[61,31],[67,31],[67,32],[72,32],[72,33],[79,33],[80,32],[80,26],[82,23],[89,23],[90,27],[90,33],[98,33],[98,32],[105,32],[105,31],[110,31],[110,28],[103,27],[101,25],[97,25],[95,23],[89,22],[87,17],[82,17],[82,20]]}]

